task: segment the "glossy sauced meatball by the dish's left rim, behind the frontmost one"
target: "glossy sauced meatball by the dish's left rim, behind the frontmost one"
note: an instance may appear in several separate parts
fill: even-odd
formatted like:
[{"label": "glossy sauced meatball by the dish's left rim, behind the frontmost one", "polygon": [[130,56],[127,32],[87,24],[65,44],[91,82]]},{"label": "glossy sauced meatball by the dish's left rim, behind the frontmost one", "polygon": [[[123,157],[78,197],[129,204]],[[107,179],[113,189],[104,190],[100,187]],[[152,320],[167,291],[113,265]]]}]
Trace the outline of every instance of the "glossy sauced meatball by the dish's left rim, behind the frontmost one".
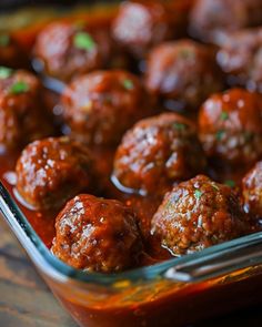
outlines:
[{"label": "glossy sauced meatball by the dish's left rim, behind the frontmost one", "polygon": [[69,137],[49,137],[29,144],[17,166],[17,190],[31,206],[59,208],[94,181],[88,149]]}]

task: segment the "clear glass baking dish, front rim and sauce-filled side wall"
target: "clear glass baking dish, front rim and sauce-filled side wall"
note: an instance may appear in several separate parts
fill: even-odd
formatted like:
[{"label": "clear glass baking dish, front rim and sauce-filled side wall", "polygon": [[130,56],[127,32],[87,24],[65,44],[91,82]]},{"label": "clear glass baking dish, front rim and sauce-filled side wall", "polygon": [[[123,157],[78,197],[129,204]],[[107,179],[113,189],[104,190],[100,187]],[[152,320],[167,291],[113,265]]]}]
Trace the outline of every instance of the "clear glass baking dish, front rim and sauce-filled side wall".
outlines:
[{"label": "clear glass baking dish, front rim and sauce-filled side wall", "polygon": [[52,256],[1,183],[0,213],[80,326],[183,326],[260,300],[262,232],[161,264],[102,275],[77,270]]}]

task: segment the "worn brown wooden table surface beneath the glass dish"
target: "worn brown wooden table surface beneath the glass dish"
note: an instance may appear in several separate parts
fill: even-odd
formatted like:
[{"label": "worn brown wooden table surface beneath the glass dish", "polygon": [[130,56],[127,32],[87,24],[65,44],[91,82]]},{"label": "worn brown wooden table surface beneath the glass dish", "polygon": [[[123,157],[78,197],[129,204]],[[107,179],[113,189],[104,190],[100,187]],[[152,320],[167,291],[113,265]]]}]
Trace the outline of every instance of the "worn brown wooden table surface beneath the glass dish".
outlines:
[{"label": "worn brown wooden table surface beneath the glass dish", "polygon": [[[258,306],[190,327],[261,326],[262,310]],[[0,327],[77,327],[39,277],[1,217]]]}]

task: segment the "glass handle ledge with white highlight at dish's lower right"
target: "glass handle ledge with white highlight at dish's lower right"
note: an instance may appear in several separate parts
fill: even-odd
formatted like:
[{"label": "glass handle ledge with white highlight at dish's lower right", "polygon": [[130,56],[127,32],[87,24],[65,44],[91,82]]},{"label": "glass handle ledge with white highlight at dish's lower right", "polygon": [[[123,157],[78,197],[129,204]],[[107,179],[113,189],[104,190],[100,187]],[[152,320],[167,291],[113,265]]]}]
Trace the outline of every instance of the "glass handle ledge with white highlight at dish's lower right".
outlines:
[{"label": "glass handle ledge with white highlight at dish's lower right", "polygon": [[187,262],[169,268],[164,276],[185,283],[200,282],[262,264],[261,232],[249,235],[242,243],[231,241],[225,244],[226,247],[219,253],[213,246],[202,251],[202,255],[196,258],[195,255],[192,259],[187,256]]}]

